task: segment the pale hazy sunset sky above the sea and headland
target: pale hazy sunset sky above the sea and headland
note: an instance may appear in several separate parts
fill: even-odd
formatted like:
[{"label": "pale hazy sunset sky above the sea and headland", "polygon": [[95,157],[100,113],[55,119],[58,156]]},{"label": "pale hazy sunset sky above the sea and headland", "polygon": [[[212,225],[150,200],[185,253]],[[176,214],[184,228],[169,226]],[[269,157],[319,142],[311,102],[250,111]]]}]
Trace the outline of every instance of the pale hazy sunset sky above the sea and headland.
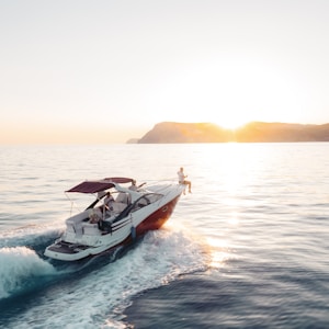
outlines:
[{"label": "pale hazy sunset sky above the sea and headland", "polygon": [[0,0],[0,143],[329,123],[329,1]]}]

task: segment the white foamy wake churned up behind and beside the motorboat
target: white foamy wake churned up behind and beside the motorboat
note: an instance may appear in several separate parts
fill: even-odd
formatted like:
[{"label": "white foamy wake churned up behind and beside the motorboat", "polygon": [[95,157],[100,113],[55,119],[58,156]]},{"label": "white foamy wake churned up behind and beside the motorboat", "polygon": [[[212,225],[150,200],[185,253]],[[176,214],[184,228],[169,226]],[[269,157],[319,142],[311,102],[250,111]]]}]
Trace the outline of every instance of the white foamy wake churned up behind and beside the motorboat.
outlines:
[{"label": "white foamy wake churned up behind and beside the motorboat", "polygon": [[201,243],[168,226],[128,247],[64,265],[41,252],[55,234],[43,231],[34,243],[25,236],[31,247],[0,248],[0,327],[124,328],[123,311],[133,296],[207,268]]}]

